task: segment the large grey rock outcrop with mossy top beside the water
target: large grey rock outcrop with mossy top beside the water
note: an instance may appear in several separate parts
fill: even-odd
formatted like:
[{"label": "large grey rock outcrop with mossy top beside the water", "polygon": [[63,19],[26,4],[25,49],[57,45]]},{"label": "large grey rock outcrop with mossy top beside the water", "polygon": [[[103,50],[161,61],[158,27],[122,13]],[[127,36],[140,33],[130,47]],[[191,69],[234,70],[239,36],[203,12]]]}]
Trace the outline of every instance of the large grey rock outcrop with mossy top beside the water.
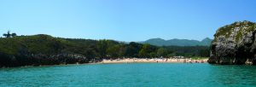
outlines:
[{"label": "large grey rock outcrop with mossy top beside the water", "polygon": [[256,65],[256,24],[239,21],[218,29],[211,44],[212,64]]}]

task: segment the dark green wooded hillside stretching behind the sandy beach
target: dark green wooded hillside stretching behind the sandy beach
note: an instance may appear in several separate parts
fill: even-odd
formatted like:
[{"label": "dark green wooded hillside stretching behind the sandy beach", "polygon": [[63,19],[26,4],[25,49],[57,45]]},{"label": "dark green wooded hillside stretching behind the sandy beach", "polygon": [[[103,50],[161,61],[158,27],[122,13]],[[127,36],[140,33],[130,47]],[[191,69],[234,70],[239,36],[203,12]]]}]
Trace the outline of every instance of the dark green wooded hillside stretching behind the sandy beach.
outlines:
[{"label": "dark green wooded hillside stretching behind the sandy beach", "polygon": [[54,38],[39,34],[0,38],[0,67],[88,63],[114,58],[209,56],[207,46],[154,46],[113,40]]}]

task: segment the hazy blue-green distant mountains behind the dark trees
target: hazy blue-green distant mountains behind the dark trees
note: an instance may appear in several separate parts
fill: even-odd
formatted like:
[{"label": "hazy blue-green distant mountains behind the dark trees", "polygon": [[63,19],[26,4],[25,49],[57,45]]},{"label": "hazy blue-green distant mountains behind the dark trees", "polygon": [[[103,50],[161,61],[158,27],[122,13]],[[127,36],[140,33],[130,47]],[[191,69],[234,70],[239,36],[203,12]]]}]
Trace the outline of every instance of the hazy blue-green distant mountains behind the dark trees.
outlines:
[{"label": "hazy blue-green distant mountains behind the dark trees", "polygon": [[189,39],[170,39],[165,40],[162,38],[151,38],[143,42],[138,42],[141,44],[152,44],[157,46],[209,46],[212,43],[211,38],[204,38],[201,41],[198,40],[189,40]]}]

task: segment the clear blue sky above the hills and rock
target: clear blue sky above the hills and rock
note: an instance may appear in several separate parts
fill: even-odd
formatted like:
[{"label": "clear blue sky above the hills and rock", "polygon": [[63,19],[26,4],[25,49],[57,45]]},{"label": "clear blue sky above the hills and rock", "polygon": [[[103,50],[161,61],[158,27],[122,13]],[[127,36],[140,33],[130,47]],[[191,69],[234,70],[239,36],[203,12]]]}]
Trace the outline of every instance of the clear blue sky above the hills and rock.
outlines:
[{"label": "clear blue sky above the hills and rock", "polygon": [[143,41],[213,38],[256,21],[255,0],[0,0],[0,33]]}]

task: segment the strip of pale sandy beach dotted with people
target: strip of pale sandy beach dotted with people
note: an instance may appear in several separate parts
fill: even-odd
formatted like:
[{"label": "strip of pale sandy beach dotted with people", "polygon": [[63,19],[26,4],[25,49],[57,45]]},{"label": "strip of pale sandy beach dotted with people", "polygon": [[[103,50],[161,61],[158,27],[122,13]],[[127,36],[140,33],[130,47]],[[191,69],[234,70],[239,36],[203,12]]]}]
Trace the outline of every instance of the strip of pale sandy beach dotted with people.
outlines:
[{"label": "strip of pale sandy beach dotted with people", "polygon": [[99,63],[136,63],[136,62],[156,62],[156,63],[207,63],[207,59],[203,60],[191,60],[191,59],[138,59],[138,58],[126,58],[115,60],[103,60]]}]

